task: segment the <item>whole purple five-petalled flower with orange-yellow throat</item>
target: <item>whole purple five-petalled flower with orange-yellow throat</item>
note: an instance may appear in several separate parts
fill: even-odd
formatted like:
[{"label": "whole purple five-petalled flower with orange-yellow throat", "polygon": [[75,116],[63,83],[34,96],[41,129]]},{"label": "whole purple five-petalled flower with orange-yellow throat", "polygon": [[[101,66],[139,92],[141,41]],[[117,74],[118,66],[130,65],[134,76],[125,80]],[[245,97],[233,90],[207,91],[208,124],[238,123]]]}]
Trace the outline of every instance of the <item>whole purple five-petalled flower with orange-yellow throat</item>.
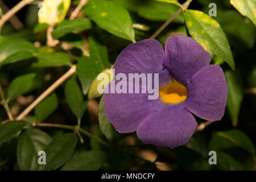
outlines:
[{"label": "whole purple five-petalled flower with orange-yellow throat", "polygon": [[209,63],[209,53],[186,36],[168,38],[165,52],[154,39],[130,44],[115,61],[115,75],[159,73],[159,98],[104,93],[106,117],[119,133],[137,131],[146,144],[174,148],[187,143],[197,127],[191,113],[209,121],[224,115],[228,86],[221,67]]}]

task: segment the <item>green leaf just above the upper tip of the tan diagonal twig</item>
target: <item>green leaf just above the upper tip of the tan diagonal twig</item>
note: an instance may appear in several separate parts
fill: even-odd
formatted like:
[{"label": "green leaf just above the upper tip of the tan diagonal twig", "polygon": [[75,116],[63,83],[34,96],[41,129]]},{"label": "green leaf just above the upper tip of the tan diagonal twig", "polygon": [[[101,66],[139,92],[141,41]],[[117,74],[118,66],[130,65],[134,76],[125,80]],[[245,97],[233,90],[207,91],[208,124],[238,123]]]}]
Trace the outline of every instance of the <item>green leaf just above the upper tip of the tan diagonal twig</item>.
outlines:
[{"label": "green leaf just above the upper tip of the tan diagonal twig", "polygon": [[42,67],[59,67],[64,65],[69,67],[73,65],[67,53],[53,52],[52,48],[43,47],[38,52],[38,61],[34,63],[32,66],[42,68]]}]

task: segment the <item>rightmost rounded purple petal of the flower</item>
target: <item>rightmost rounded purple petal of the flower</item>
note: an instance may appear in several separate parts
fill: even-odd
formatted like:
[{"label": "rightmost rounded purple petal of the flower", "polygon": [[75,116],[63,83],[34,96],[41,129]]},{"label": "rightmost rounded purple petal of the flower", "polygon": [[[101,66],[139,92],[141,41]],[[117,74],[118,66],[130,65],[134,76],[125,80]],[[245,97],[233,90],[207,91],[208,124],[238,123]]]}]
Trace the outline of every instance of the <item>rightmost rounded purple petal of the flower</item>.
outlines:
[{"label": "rightmost rounded purple petal of the flower", "polygon": [[220,66],[209,65],[200,69],[187,87],[187,109],[198,117],[216,121],[223,117],[228,85]]}]

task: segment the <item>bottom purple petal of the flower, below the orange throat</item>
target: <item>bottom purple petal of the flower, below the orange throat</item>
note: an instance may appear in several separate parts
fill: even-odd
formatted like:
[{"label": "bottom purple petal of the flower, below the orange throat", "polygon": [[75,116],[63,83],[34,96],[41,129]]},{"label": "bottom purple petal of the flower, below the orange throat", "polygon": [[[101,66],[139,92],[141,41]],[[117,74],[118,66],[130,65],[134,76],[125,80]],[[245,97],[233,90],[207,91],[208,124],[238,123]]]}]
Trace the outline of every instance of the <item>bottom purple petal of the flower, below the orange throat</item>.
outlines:
[{"label": "bottom purple petal of the flower, below the orange throat", "polygon": [[175,148],[187,143],[196,127],[196,119],[183,105],[167,106],[148,115],[137,135],[146,144]]}]

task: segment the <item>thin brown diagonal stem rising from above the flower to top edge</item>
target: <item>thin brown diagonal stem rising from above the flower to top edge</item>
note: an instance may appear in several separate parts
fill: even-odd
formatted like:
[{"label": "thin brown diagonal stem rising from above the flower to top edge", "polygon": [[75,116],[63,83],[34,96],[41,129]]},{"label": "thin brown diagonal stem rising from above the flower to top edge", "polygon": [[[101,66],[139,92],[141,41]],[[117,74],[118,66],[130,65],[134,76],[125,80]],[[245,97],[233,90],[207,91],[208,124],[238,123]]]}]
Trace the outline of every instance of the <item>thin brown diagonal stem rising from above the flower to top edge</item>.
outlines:
[{"label": "thin brown diagonal stem rising from above the flower to top edge", "polygon": [[150,39],[155,39],[164,30],[164,28],[166,28],[168,26],[168,24],[170,24],[172,22],[172,20],[174,20],[176,18],[176,16],[181,13],[181,11],[187,10],[189,4],[192,1],[193,0],[187,0],[185,3],[183,3],[183,5],[181,5],[180,9],[177,10],[176,13],[171,16],[171,18],[169,18],[166,22],[164,22],[164,24],[158,30],[156,30],[156,32],[150,37]]}]

